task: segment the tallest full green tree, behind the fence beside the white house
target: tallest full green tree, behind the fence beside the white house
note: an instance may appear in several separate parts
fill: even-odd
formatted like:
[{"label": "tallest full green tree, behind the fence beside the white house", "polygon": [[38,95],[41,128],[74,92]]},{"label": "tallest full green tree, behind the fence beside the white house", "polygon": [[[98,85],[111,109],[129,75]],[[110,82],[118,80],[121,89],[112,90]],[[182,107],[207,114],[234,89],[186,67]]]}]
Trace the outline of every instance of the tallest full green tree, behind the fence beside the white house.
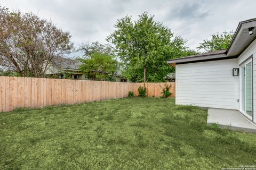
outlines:
[{"label": "tallest full green tree, behind the fence beside the white house", "polygon": [[147,12],[134,22],[131,16],[125,16],[114,27],[116,30],[107,40],[115,45],[124,65],[123,75],[132,82],[165,81],[164,77],[172,71],[166,60],[183,55],[178,51],[186,49],[185,40],[175,37],[174,42],[170,28],[154,21],[154,15]]}]

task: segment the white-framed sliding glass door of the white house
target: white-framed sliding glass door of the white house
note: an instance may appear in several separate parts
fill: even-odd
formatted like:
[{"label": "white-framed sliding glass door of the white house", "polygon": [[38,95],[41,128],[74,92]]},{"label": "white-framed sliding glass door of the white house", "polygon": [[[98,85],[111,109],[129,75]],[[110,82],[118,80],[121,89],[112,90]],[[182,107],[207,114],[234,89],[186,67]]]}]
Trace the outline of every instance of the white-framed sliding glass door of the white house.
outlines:
[{"label": "white-framed sliding glass door of the white house", "polygon": [[242,112],[252,119],[252,61],[242,66]]}]

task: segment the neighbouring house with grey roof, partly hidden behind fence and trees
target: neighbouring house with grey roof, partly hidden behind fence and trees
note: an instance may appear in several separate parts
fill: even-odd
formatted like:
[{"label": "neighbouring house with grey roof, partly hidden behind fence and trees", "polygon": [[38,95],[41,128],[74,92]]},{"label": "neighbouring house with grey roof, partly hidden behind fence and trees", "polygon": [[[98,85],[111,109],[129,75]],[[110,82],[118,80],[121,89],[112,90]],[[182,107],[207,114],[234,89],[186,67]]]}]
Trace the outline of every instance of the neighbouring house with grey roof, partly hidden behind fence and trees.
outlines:
[{"label": "neighbouring house with grey roof, partly hidden behind fence and trees", "polygon": [[[54,57],[53,63],[47,70],[46,74],[53,78],[64,79],[65,75],[68,74],[69,79],[77,80],[88,80],[86,76],[79,71],[79,65],[83,64],[77,60],[64,57]],[[121,77],[121,72],[117,71],[116,74],[111,74],[117,82],[128,82],[126,79]]]}]

